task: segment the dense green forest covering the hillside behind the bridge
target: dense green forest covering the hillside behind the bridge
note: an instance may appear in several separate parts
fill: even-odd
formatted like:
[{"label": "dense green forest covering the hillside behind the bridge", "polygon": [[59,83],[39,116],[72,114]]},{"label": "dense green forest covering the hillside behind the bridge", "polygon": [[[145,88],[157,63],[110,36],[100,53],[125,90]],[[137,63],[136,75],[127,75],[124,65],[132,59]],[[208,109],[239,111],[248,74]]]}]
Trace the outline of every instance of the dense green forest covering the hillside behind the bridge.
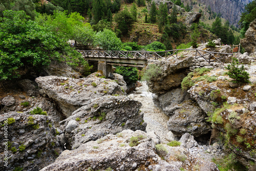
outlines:
[{"label": "dense green forest covering the hillside behind the bridge", "polygon": [[[0,0],[0,80],[18,77],[20,69],[47,66],[51,60],[86,65],[67,43],[69,39],[87,48],[162,51],[172,50],[173,43],[182,41],[185,44],[174,48],[196,48],[201,33],[207,29],[223,44],[237,45],[256,16],[254,0],[245,7],[240,29],[230,26],[228,20],[223,25],[221,15],[210,12],[210,8],[208,13],[215,18],[211,26],[202,22],[187,26],[181,21],[179,8],[192,9],[180,0],[173,3],[168,11],[166,4],[145,0]],[[158,41],[146,46],[121,41],[143,23],[157,28]],[[146,33],[146,29],[136,31]],[[241,34],[235,35],[236,31]]]}]

